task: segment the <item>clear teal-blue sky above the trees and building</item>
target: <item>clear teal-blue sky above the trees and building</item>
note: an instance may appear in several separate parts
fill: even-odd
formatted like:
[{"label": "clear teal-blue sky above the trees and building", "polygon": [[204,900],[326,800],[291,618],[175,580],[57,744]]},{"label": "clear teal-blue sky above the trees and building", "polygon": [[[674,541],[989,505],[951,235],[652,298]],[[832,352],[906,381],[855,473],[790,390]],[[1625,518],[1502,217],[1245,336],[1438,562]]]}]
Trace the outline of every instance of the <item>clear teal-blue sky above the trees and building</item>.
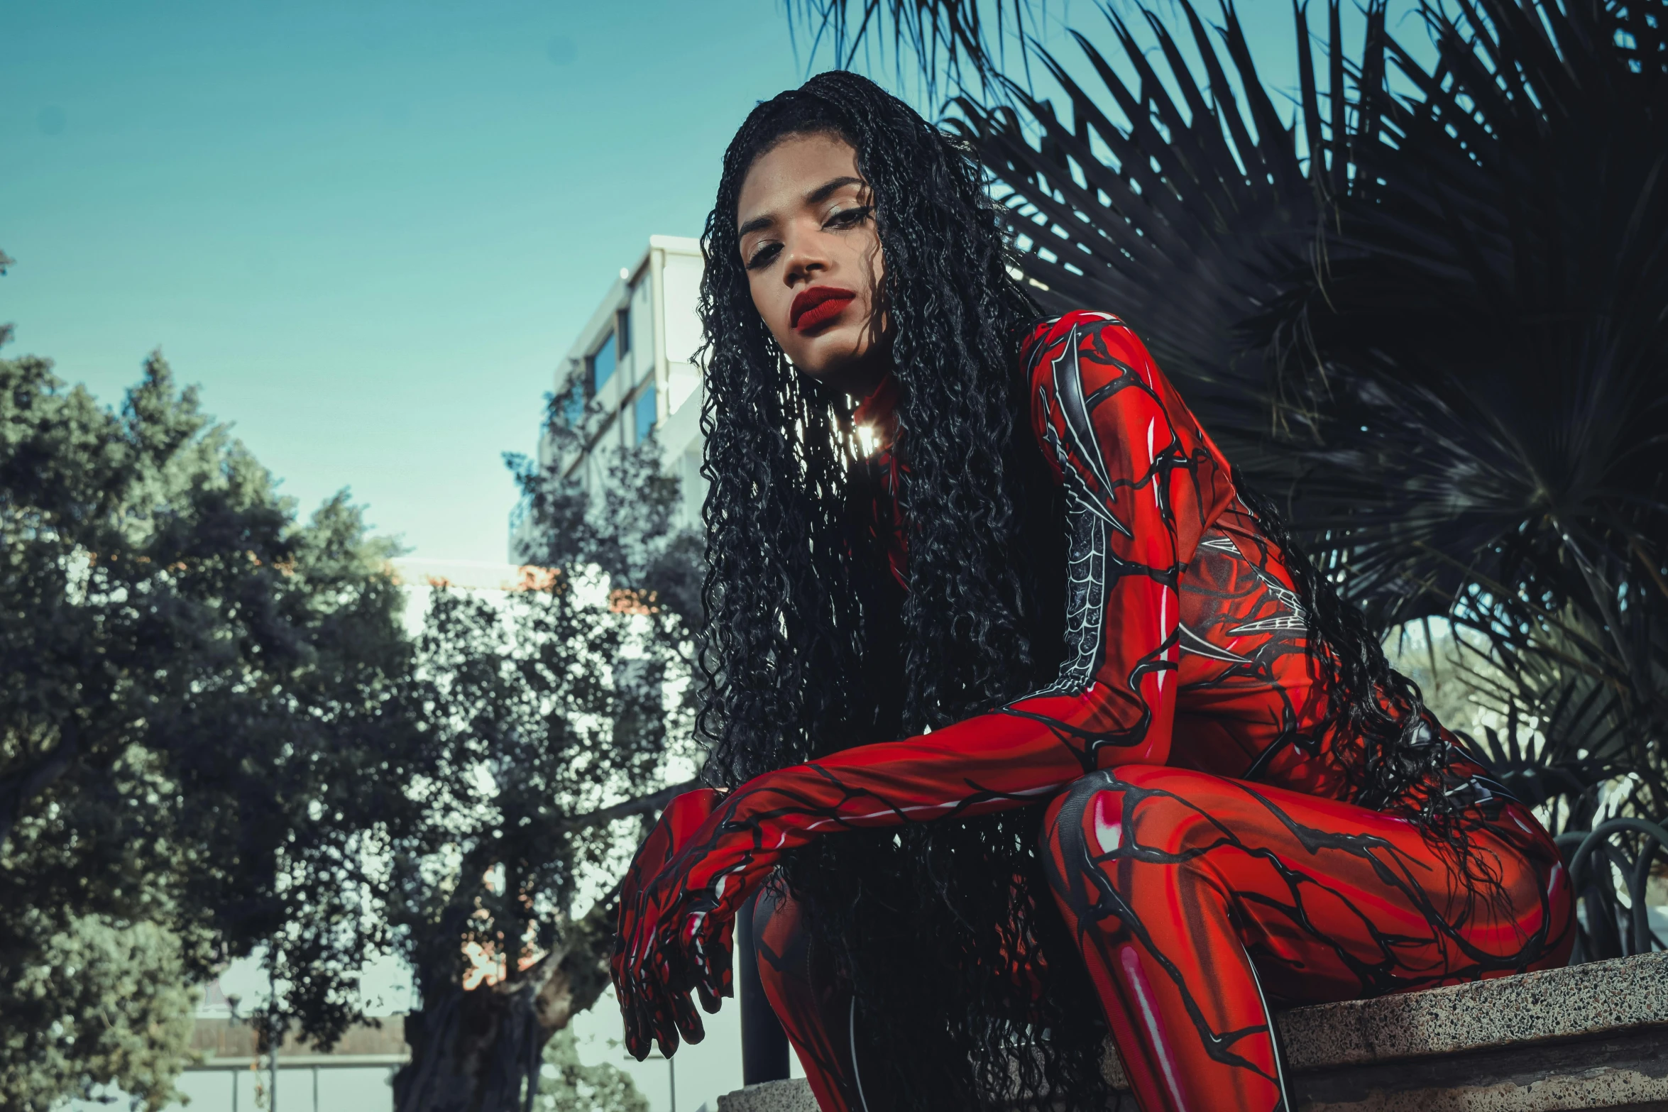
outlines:
[{"label": "clear teal-blue sky above the trees and building", "polygon": [[7,355],[115,403],[160,347],[304,510],[502,560],[557,358],[806,72],[779,0],[0,0]]}]

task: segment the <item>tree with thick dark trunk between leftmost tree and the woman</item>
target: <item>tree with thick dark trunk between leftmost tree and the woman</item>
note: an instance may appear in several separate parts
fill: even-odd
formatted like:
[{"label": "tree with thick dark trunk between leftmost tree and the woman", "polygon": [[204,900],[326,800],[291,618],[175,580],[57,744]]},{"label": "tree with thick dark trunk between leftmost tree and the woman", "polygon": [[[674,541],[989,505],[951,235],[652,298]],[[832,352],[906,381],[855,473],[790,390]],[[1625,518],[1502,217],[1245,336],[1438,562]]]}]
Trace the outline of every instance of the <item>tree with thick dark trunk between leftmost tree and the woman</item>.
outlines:
[{"label": "tree with thick dark trunk between leftmost tree and the woman", "polygon": [[[552,400],[564,445],[565,412]],[[659,450],[615,457],[599,500],[554,467],[509,462],[550,570],[492,599],[442,587],[422,632],[435,779],[414,785],[429,834],[394,857],[390,917],[422,992],[400,1112],[537,1107],[545,1047],[607,989],[612,879],[641,824],[691,787],[667,784],[669,754],[694,772],[699,574]],[[624,1075],[555,1067],[547,1095],[589,1087],[641,1104]]]}]

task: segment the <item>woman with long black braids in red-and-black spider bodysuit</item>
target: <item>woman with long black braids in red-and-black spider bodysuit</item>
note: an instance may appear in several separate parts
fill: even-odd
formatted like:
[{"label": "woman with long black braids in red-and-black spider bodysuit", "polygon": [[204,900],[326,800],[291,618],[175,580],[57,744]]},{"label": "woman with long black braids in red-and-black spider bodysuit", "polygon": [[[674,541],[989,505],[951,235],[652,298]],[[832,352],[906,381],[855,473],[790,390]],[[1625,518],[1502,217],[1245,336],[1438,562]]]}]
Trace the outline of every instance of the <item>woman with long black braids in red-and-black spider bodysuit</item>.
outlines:
[{"label": "woman with long black braids in red-and-black spider bodysuit", "polygon": [[1129,328],[1037,323],[951,140],[824,73],[706,243],[721,787],[626,880],[634,1054],[701,1037],[761,887],[826,1110],[1104,1107],[1108,1029],[1148,1112],[1284,1109],[1269,1000],[1566,960],[1546,832]]}]

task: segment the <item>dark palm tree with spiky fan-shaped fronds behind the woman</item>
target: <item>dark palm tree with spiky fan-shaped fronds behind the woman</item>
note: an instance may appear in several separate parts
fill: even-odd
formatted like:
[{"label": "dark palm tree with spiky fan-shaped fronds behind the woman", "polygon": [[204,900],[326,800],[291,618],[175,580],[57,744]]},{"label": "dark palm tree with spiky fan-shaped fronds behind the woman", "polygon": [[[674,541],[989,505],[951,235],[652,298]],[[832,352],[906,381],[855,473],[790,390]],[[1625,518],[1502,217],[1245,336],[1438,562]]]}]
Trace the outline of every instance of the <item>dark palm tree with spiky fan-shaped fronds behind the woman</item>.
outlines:
[{"label": "dark palm tree with spiky fan-shaped fronds behind the woman", "polygon": [[1234,8],[1176,8],[1106,12],[1121,67],[1074,33],[1093,88],[1002,55],[1019,0],[799,15],[959,90],[1039,300],[1143,332],[1381,629],[1449,624],[1515,790],[1663,815],[1668,3],[1426,0],[1429,65],[1381,0],[1318,63],[1299,5],[1289,123]]}]

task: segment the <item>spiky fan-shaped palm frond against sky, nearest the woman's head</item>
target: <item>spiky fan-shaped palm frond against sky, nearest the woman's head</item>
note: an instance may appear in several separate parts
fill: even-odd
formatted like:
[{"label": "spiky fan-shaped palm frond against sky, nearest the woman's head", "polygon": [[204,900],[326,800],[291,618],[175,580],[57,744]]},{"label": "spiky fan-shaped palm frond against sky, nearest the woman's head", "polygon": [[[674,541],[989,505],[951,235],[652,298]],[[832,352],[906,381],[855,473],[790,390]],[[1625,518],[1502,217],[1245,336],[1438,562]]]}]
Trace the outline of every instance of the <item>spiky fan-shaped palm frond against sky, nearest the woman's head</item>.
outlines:
[{"label": "spiky fan-shaped palm frond against sky, nearest the woman's head", "polygon": [[[951,125],[996,178],[1039,300],[1126,318],[1184,383],[1236,463],[1259,485],[1286,488],[1294,480],[1288,453],[1269,450],[1283,420],[1283,407],[1269,403],[1271,390],[1278,393],[1276,360],[1266,342],[1248,340],[1244,323],[1278,305],[1294,277],[1314,270],[1333,178],[1351,178],[1354,132],[1348,122],[1338,135],[1318,123],[1303,8],[1294,20],[1301,138],[1296,125],[1281,122],[1234,8],[1223,7],[1214,30],[1191,3],[1179,10],[1199,72],[1151,12],[1143,13],[1156,45],[1151,58],[1129,22],[1108,12],[1133,78],[1076,35],[1099,90],[1079,83],[1059,57],[1034,50],[1063,90],[1068,118],[1009,83],[1006,105],[957,100]],[[1366,70],[1383,68],[1381,25],[1383,8],[1374,5]],[[1329,53],[1329,68],[1343,73],[1336,38]]]}]

